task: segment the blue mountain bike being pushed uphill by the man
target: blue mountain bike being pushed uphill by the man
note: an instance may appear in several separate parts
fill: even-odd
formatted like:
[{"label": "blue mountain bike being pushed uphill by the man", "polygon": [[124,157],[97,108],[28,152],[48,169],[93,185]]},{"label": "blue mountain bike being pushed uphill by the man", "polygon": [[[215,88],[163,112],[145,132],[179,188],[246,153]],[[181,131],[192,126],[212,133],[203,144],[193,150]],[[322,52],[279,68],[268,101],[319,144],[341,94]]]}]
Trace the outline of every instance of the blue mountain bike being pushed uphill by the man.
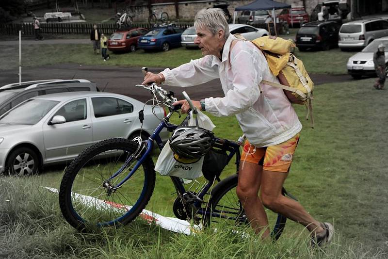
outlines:
[{"label": "blue mountain bike being pushed uphill by the man", "polygon": [[[90,226],[126,225],[142,212],[151,198],[155,187],[154,163],[150,155],[153,142],[162,150],[164,145],[159,133],[165,128],[171,132],[177,129],[178,125],[169,120],[180,107],[172,105],[177,101],[173,92],[167,92],[155,83],[136,87],[150,91],[154,97],[161,97],[160,103],[169,109],[169,113],[147,140],[136,137],[133,140],[116,138],[98,142],[82,151],[67,167],[60,186],[59,204],[66,221],[78,230],[87,230]],[[190,98],[185,92],[183,94],[195,111]],[[139,113],[139,119],[143,119],[142,113]],[[237,173],[243,139],[244,135],[238,141],[214,137],[213,148],[225,152],[226,164],[236,156]],[[218,177],[207,178],[194,190],[194,184],[186,190],[183,179],[170,178],[177,194],[173,205],[177,218],[200,222],[205,227],[219,222],[219,219],[237,225],[248,224],[235,191],[237,174],[221,181]],[[282,193],[292,197],[284,188]],[[205,195],[209,196],[208,201]],[[272,236],[277,240],[283,232],[286,217],[274,213],[269,220],[273,225]]]}]

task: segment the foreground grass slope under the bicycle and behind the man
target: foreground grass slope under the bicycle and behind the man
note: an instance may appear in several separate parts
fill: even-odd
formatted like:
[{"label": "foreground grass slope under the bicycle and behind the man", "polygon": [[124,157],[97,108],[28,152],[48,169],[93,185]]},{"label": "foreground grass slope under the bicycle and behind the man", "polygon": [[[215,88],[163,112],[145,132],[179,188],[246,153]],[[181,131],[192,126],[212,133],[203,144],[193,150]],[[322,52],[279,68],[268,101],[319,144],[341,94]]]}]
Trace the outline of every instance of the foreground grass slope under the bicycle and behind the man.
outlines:
[{"label": "foreground grass slope under the bicycle and behind the man", "polygon": [[[386,215],[388,115],[386,91],[374,80],[320,85],[315,90],[315,129],[297,106],[304,125],[285,187],[319,221],[334,222],[335,242],[323,251],[307,248],[308,234],[289,222],[276,244],[232,234],[230,226],[196,236],[174,234],[136,220],[128,227],[75,231],[62,218],[55,194],[62,170],[32,178],[0,178],[0,258],[387,258]],[[234,117],[212,117],[217,136],[237,139]],[[178,121],[178,118],[175,118]],[[234,173],[228,165],[225,177]],[[158,176],[148,210],[173,215],[169,178]],[[255,243],[256,242],[256,243]]]}]

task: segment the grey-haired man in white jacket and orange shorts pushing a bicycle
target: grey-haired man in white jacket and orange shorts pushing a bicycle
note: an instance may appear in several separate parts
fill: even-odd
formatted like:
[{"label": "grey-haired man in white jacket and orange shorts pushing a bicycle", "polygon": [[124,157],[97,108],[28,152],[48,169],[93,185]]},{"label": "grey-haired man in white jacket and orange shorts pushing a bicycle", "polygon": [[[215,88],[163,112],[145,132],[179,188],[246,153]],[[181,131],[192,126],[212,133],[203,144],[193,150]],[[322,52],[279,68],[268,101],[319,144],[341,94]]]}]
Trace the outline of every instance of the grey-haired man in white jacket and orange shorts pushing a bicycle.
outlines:
[{"label": "grey-haired man in white jacket and orange shorts pushing a bicycle", "polygon": [[[334,232],[331,224],[316,221],[297,201],[281,194],[302,125],[283,90],[260,83],[279,83],[263,53],[229,33],[220,9],[198,13],[194,27],[194,42],[204,57],[159,74],[148,72],[143,84],[155,81],[187,87],[220,79],[225,97],[209,97],[193,104],[216,116],[235,115],[248,139],[241,155],[237,195],[255,232],[262,238],[269,236],[265,206],[306,226],[313,244],[330,242]],[[176,104],[182,105],[183,113],[188,112],[186,100]]]}]

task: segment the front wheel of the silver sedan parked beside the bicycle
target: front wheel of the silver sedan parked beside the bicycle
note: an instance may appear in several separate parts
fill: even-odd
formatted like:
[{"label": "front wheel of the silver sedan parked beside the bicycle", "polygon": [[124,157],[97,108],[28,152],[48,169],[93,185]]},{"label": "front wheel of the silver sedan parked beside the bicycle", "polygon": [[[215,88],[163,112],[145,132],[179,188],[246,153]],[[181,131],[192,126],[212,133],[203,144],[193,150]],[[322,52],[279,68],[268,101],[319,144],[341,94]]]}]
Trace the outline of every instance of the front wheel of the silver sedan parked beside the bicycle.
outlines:
[{"label": "front wheel of the silver sedan parked beside the bicycle", "polygon": [[39,157],[29,147],[16,148],[8,156],[6,172],[10,175],[28,176],[38,172]]}]

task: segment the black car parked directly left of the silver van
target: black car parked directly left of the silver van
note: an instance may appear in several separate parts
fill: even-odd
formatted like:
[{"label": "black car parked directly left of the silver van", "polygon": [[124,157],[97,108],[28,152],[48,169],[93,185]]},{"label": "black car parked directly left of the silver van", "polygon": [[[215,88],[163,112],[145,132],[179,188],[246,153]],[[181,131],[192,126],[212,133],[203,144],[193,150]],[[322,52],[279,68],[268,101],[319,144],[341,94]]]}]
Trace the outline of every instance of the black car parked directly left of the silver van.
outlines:
[{"label": "black car parked directly left of the silver van", "polygon": [[296,47],[300,51],[308,48],[329,50],[338,45],[339,24],[334,21],[308,22],[296,33]]}]

